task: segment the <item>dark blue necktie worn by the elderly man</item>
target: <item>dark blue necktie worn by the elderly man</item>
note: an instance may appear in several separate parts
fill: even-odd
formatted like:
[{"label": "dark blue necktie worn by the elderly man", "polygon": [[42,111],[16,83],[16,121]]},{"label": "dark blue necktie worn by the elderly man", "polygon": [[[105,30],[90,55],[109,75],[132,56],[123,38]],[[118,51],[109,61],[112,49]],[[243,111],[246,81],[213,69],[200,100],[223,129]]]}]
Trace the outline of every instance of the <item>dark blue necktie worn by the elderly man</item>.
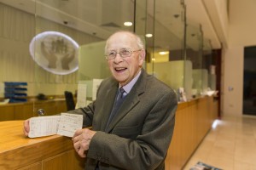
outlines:
[{"label": "dark blue necktie worn by the elderly man", "polygon": [[108,124],[112,121],[113,116],[115,116],[116,112],[119,110],[119,107],[120,107],[120,105],[122,105],[124,100],[125,100],[125,89],[119,88],[119,94],[114,101],[113,109],[110,113],[110,116],[108,117],[108,123],[107,123],[106,128],[108,127]]}]

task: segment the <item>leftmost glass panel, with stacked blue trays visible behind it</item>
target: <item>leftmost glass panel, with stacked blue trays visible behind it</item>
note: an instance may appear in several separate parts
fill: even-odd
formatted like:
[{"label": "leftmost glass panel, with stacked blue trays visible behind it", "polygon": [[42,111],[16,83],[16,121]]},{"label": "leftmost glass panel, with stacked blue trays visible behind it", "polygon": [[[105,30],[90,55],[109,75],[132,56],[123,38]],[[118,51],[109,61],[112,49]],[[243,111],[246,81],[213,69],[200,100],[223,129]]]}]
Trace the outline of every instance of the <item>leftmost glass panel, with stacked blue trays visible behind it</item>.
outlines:
[{"label": "leftmost glass panel, with stacked blue trays visible behind it", "polygon": [[[34,3],[0,3],[0,121],[20,120],[31,117],[33,61],[29,43],[35,34]],[[25,12],[26,11],[26,12]],[[19,103],[20,105],[15,105]],[[3,106],[3,107],[2,107]],[[24,107],[23,107],[24,106]],[[6,116],[5,116],[6,114]]]}]

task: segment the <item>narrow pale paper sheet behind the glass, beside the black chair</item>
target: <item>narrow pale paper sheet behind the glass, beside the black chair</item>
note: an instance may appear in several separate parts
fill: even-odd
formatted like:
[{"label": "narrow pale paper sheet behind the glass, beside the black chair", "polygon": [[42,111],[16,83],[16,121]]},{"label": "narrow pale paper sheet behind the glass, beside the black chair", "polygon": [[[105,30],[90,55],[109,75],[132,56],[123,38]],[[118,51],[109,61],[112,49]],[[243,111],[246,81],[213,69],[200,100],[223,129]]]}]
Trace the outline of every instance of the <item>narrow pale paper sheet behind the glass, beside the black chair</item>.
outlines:
[{"label": "narrow pale paper sheet behind the glass, beside the black chair", "polygon": [[76,109],[86,106],[86,90],[87,85],[85,82],[79,81]]}]

